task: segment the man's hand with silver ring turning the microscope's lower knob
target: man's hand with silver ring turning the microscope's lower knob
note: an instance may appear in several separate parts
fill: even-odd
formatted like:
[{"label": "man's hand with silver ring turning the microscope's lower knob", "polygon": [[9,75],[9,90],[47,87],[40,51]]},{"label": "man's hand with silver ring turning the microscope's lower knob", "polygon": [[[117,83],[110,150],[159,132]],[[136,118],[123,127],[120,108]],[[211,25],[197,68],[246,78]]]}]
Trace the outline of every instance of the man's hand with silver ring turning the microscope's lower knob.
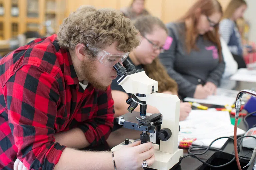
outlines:
[{"label": "man's hand with silver ring turning the microscope's lower knob", "polygon": [[[136,141],[114,152],[117,169],[138,170],[142,169],[142,162],[147,161],[150,167],[155,161],[154,147],[151,142],[140,144]],[[125,153],[125,154],[124,154]]]}]

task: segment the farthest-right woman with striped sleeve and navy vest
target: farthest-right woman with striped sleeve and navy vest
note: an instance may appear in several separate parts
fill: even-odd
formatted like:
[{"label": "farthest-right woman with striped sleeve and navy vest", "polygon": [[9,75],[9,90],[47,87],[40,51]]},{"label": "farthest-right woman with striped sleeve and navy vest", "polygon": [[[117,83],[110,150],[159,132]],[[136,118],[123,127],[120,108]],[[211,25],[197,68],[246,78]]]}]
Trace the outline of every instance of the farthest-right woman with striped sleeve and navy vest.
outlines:
[{"label": "farthest-right woman with striped sleeve and navy vest", "polygon": [[252,46],[243,46],[236,24],[236,20],[243,17],[246,9],[247,5],[244,0],[232,0],[224,11],[223,20],[220,22],[221,37],[228,44],[238,68],[246,68],[243,56],[253,52]]}]

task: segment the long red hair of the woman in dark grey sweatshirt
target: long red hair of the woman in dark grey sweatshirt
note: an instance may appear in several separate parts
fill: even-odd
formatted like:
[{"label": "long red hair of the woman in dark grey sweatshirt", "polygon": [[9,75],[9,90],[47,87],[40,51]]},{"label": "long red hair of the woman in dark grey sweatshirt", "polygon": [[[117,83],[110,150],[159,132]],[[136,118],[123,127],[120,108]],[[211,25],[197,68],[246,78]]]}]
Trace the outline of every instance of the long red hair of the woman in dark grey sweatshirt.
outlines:
[{"label": "long red hair of the woman in dark grey sweatshirt", "polygon": [[[206,16],[210,16],[215,12],[219,12],[222,14],[222,7],[217,0],[198,0],[194,5],[187,11],[187,13],[179,19],[179,22],[185,22],[188,19],[191,19],[191,23],[189,26],[186,26],[186,50],[190,53],[191,49],[197,49],[196,46],[196,39],[198,37],[197,32],[197,24],[199,20],[199,16],[197,14],[197,9],[201,10],[201,14]],[[214,27],[214,31],[208,31],[204,35],[205,38],[214,42],[218,47],[219,53],[219,61],[222,59],[221,55],[221,44],[220,44],[220,37],[219,37],[219,26]]]}]

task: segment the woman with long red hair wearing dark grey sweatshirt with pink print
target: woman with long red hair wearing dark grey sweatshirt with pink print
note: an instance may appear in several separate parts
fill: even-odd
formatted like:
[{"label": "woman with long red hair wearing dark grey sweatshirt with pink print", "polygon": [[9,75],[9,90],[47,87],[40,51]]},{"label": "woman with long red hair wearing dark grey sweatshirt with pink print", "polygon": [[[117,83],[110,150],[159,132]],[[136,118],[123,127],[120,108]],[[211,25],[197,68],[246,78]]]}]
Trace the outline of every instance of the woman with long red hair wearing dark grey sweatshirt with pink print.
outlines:
[{"label": "woman with long red hair wearing dark grey sweatshirt with pink print", "polygon": [[198,0],[176,23],[167,24],[171,47],[159,55],[181,97],[207,98],[216,93],[224,72],[217,0]]}]

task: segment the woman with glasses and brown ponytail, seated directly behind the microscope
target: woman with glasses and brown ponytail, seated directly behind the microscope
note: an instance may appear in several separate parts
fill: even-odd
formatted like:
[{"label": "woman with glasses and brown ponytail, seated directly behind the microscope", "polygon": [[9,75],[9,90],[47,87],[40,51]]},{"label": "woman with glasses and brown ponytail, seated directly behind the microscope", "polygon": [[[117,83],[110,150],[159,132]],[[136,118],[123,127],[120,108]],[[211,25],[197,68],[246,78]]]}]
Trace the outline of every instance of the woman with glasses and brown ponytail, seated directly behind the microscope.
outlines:
[{"label": "woman with glasses and brown ponytail, seated directly behind the microscope", "polygon": [[[149,78],[158,81],[158,92],[177,95],[177,83],[170,78],[164,66],[158,59],[158,55],[164,51],[163,47],[168,38],[168,30],[164,23],[153,16],[141,16],[134,20],[134,26],[139,30],[141,43],[138,47],[132,50],[127,59],[135,65],[136,69],[144,68]],[[166,45],[165,45],[166,47]],[[119,117],[126,114],[129,105],[126,99],[130,94],[127,94],[122,86],[117,84],[117,77],[112,81],[112,98],[114,100],[114,117]],[[140,112],[139,107],[135,111]],[[185,120],[191,111],[191,105],[187,102],[180,104],[180,120]],[[159,113],[153,107],[147,105],[147,113]],[[172,114],[172,113],[170,113]],[[112,132],[107,140],[110,147],[121,143],[125,138],[138,139],[141,131],[121,128],[118,124],[114,124],[114,132]],[[120,128],[120,129],[119,129]]]}]

